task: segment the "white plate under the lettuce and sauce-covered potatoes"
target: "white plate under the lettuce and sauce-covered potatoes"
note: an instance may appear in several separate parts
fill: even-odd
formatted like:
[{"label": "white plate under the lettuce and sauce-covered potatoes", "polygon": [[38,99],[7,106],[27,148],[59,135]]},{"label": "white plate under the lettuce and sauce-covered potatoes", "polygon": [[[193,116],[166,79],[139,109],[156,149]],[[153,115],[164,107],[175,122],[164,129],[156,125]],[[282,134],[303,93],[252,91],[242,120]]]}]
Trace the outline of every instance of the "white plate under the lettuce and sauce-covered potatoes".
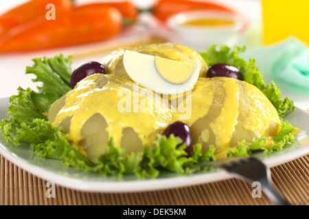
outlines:
[{"label": "white plate under the lettuce and sauce-covered potatoes", "polygon": [[[0,99],[0,120],[7,117],[8,98]],[[309,113],[297,108],[295,112],[286,116],[294,127],[301,131],[297,134],[298,142],[282,151],[275,151],[264,157],[262,153],[258,157],[264,160],[268,167],[284,164],[309,153]],[[177,175],[163,172],[157,179],[137,179],[130,175],[122,178],[102,177],[72,168],[65,168],[58,160],[41,159],[36,157],[28,145],[13,146],[7,144],[0,137],[0,153],[10,162],[23,168],[32,175],[36,175],[46,181],[52,181],[56,185],[88,192],[135,192],[147,190],[159,190],[177,188],[187,185],[196,185],[233,177],[225,170],[198,173],[194,175]]]}]

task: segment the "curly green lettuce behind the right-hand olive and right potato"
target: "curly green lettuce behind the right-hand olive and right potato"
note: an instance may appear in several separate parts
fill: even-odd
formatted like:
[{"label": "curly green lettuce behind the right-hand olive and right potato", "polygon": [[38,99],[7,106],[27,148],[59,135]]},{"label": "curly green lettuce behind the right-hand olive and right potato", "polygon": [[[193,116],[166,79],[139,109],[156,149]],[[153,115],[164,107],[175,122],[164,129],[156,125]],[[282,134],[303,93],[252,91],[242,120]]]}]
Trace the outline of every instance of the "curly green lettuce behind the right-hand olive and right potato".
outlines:
[{"label": "curly green lettuce behind the right-hand olive and right potato", "polygon": [[253,84],[259,88],[265,96],[273,103],[280,118],[284,118],[288,110],[295,110],[295,105],[293,101],[286,97],[282,99],[281,90],[279,86],[276,86],[273,81],[270,84],[266,83],[262,79],[262,73],[258,70],[255,64],[255,60],[251,58],[248,62],[240,57],[238,54],[246,50],[245,46],[237,45],[233,49],[223,45],[217,47],[216,44],[212,45],[206,51],[201,51],[200,54],[208,64],[211,66],[217,63],[226,63],[236,66],[242,72],[244,76],[244,81]]}]

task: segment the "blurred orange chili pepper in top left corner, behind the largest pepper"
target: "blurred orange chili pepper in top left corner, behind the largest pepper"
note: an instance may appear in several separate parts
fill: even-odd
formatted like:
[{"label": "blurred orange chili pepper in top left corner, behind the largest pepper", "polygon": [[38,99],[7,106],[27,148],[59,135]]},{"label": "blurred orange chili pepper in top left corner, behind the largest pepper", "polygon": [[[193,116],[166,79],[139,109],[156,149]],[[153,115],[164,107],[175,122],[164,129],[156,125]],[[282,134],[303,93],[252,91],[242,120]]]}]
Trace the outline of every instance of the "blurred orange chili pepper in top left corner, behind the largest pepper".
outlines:
[{"label": "blurred orange chili pepper in top left corner, behind the largest pepper", "polygon": [[45,19],[46,5],[53,3],[56,14],[67,12],[72,9],[71,0],[32,0],[27,1],[16,8],[12,8],[0,15],[0,36],[10,29],[32,21],[34,18]]}]

